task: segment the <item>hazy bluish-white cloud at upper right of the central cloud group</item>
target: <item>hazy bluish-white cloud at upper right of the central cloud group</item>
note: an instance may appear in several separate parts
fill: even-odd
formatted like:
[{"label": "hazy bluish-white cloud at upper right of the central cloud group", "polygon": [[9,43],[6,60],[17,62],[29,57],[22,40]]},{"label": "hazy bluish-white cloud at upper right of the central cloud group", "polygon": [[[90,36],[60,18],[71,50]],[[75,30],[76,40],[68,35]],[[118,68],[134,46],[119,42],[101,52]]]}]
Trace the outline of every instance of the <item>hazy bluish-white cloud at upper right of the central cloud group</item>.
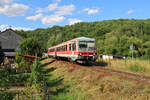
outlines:
[{"label": "hazy bluish-white cloud at upper right of the central cloud group", "polygon": [[75,6],[73,4],[64,5],[64,6],[58,7],[55,14],[56,15],[71,15],[74,10],[75,10]]}]

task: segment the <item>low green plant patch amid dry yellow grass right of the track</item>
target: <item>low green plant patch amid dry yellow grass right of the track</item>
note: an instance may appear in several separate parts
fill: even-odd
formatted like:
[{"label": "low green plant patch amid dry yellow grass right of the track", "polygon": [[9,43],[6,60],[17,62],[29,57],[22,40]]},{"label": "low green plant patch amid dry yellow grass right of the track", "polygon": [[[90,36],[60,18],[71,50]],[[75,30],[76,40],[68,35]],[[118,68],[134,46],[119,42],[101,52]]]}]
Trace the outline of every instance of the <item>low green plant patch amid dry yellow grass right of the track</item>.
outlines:
[{"label": "low green plant patch amid dry yellow grass right of the track", "polygon": [[145,72],[146,69],[143,66],[139,66],[138,64],[130,65],[129,69],[133,72]]}]

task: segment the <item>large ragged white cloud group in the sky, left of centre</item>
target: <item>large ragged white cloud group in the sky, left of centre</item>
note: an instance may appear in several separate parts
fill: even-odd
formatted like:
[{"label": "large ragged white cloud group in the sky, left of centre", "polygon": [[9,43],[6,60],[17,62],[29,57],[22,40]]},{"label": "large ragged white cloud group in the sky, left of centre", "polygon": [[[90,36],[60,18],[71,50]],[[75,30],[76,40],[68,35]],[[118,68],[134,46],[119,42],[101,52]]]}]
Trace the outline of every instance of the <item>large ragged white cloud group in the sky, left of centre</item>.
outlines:
[{"label": "large ragged white cloud group in the sky, left of centre", "polygon": [[[65,20],[65,15],[71,15],[72,12],[75,10],[73,4],[71,5],[63,5],[58,6],[57,3],[49,4],[45,8],[39,8],[36,12],[40,13],[35,16],[28,16],[26,17],[27,20],[37,20],[40,19],[42,24],[45,25],[54,25],[60,23]],[[52,15],[42,15],[43,12],[53,11]]]}]

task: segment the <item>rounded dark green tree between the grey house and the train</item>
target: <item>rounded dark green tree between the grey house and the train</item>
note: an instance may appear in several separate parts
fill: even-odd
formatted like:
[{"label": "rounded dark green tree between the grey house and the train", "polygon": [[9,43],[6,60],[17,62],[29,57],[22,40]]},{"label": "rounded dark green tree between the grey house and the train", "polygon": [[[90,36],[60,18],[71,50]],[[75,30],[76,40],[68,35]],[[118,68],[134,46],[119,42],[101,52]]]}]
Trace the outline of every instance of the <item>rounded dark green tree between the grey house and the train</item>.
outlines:
[{"label": "rounded dark green tree between the grey house and the train", "polygon": [[42,43],[35,37],[24,39],[19,45],[19,52],[22,54],[33,55],[41,57],[44,52]]}]

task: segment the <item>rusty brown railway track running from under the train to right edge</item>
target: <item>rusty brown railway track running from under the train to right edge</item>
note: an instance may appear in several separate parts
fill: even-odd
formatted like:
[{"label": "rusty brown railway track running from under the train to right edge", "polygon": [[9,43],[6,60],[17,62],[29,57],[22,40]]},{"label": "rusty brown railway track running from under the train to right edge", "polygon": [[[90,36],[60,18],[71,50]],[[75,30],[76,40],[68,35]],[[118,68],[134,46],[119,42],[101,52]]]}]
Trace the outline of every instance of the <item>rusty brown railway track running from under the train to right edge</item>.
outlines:
[{"label": "rusty brown railway track running from under the train to right edge", "polygon": [[81,67],[86,67],[93,71],[103,72],[105,74],[118,76],[122,80],[134,81],[137,84],[150,86],[150,75],[146,75],[146,74],[142,74],[142,73],[121,71],[121,70],[116,70],[116,69],[102,67],[102,66],[94,66],[94,65],[93,66],[84,66],[84,65],[78,65],[78,64],[75,64],[72,62],[66,62],[66,61],[61,61],[61,60],[57,60],[57,61],[59,61],[63,64],[66,64],[69,67],[73,67],[73,68],[77,68],[77,69],[81,68]]}]

